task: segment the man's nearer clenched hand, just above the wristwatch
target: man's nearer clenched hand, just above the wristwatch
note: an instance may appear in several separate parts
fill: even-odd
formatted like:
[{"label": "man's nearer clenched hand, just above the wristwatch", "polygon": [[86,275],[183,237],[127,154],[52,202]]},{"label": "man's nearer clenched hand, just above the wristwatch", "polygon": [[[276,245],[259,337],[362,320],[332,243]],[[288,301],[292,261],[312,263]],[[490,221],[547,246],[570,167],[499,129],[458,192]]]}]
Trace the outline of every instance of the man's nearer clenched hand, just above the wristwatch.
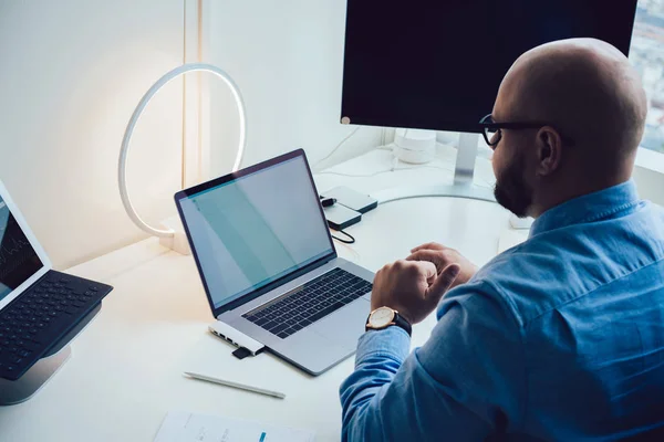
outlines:
[{"label": "man's nearer clenched hand, just above the wristwatch", "polygon": [[430,262],[396,261],[376,273],[371,294],[372,312],[391,307],[408,323],[417,324],[436,308],[459,272],[458,264],[436,271]]}]

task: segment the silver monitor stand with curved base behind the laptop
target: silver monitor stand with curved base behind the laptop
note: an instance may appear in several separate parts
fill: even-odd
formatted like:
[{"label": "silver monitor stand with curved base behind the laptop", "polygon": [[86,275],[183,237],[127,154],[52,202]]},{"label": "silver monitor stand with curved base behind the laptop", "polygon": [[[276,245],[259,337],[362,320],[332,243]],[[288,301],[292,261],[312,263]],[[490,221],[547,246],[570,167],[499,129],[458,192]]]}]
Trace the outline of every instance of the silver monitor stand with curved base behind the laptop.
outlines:
[{"label": "silver monitor stand with curved base behind the laptop", "polygon": [[494,192],[473,183],[475,172],[475,158],[477,157],[478,134],[461,133],[457,149],[457,159],[454,169],[454,183],[452,186],[404,186],[381,190],[372,193],[378,204],[422,197],[453,197],[496,202]]}]

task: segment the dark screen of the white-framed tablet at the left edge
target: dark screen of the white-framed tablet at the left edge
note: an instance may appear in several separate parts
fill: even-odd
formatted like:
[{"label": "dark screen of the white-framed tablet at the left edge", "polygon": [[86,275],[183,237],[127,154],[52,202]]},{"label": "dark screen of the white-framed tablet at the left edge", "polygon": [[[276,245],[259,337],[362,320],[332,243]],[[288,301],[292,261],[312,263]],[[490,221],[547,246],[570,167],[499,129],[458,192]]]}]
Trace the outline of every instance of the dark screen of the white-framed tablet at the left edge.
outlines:
[{"label": "dark screen of the white-framed tablet at the left edge", "polygon": [[0,306],[41,267],[43,263],[0,197]]}]

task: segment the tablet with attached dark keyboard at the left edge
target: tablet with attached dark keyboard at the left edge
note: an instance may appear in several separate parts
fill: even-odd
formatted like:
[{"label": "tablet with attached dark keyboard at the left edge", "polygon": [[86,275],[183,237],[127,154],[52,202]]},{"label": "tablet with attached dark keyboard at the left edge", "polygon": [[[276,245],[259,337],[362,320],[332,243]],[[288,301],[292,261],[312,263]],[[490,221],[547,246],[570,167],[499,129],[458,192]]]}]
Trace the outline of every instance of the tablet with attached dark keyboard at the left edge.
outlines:
[{"label": "tablet with attached dark keyboard at the left edge", "polygon": [[0,182],[0,378],[23,376],[112,288],[54,271]]}]

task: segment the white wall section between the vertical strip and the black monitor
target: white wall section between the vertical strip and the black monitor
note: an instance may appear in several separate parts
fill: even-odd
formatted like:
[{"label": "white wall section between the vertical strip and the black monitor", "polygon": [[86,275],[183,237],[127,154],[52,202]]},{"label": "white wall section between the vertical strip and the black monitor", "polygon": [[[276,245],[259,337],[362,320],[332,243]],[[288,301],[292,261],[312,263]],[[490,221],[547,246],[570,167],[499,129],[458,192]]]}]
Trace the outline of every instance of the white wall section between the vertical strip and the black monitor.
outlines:
[{"label": "white wall section between the vertical strip and the black monitor", "polygon": [[[340,122],[345,0],[207,1],[204,60],[227,71],[248,113],[243,166],[295,148],[317,165],[356,126]],[[221,82],[210,82],[211,175],[228,172],[237,151],[237,110]],[[320,166],[380,144],[361,128]]]}]

